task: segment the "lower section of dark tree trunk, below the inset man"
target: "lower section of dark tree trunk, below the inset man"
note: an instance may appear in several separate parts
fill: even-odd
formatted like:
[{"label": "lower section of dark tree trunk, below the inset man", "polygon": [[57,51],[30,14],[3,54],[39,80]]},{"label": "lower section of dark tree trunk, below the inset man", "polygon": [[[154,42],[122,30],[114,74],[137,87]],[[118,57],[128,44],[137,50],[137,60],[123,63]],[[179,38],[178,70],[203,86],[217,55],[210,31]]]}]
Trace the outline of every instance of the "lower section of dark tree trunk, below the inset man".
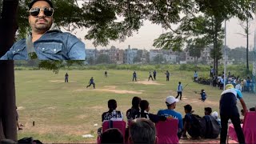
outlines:
[{"label": "lower section of dark tree trunk, below the inset man", "polygon": [[1,61],[0,67],[0,140],[17,141],[14,61]]}]

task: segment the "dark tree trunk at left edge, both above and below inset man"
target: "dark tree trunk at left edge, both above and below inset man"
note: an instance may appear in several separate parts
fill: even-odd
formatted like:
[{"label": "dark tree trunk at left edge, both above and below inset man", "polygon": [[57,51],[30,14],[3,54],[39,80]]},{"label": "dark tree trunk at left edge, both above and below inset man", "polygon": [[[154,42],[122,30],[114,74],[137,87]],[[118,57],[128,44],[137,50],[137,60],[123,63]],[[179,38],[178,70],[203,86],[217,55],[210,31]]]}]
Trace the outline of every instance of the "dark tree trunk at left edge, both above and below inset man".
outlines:
[{"label": "dark tree trunk at left edge, both above and below inset man", "polygon": [[[0,19],[0,57],[14,43],[18,0],[3,0]],[[0,61],[0,140],[17,141],[14,61]]]}]

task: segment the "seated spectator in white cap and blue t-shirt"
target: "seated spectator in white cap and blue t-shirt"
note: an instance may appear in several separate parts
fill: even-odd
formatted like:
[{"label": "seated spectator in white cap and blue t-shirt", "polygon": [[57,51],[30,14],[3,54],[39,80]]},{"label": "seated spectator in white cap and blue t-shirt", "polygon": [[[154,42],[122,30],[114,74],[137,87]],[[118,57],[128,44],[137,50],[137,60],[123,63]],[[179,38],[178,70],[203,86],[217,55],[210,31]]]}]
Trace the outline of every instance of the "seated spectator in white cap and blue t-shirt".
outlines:
[{"label": "seated spectator in white cap and blue t-shirt", "polygon": [[178,138],[182,136],[183,123],[182,123],[182,114],[175,111],[176,102],[178,102],[178,98],[174,98],[174,96],[168,96],[166,98],[166,110],[159,110],[158,115],[165,116],[166,118],[176,118],[178,119]]}]

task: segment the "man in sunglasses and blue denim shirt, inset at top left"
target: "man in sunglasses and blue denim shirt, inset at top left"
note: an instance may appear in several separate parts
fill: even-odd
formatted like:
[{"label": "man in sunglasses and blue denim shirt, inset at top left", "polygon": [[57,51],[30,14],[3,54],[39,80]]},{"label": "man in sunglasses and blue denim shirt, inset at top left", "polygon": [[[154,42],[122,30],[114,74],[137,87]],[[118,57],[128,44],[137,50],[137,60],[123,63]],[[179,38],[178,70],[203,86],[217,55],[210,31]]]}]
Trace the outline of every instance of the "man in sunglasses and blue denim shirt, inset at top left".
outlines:
[{"label": "man in sunglasses and blue denim shirt, inset at top left", "polygon": [[31,34],[15,42],[0,60],[85,60],[85,44],[70,33],[50,30],[54,6],[50,0],[34,0],[29,5]]}]

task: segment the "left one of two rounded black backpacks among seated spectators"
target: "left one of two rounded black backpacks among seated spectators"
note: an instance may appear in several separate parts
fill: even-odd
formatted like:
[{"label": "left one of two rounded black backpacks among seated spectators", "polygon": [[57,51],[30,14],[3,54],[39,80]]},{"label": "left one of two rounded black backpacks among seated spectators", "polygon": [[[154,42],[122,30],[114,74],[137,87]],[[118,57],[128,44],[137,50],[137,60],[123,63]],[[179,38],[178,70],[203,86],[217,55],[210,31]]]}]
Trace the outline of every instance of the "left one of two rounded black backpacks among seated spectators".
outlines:
[{"label": "left one of two rounded black backpacks among seated spectators", "polygon": [[206,120],[201,118],[198,114],[190,115],[190,126],[187,132],[192,138],[203,137],[206,132]]}]

